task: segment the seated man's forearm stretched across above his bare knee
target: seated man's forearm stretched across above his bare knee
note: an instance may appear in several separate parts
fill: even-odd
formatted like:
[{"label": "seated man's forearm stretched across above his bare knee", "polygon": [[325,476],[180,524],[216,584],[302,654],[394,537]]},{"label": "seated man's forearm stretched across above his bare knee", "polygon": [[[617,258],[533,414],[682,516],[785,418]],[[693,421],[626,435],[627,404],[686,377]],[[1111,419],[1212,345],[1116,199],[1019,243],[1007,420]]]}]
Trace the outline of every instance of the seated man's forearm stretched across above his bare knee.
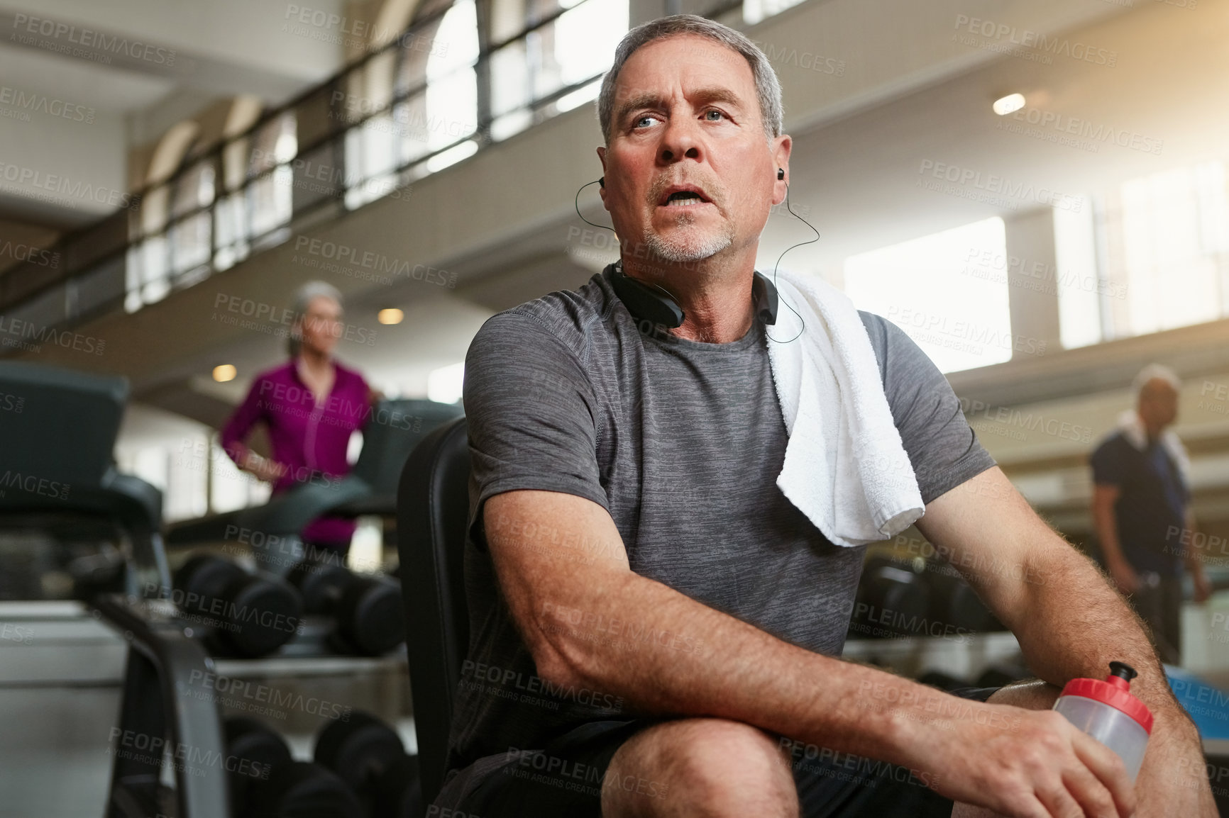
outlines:
[{"label": "seated man's forearm stretched across above his bare knee", "polygon": [[[724,717],[906,763],[893,711],[946,696],[790,645],[637,574],[580,598],[564,586],[541,603],[541,628],[563,658],[554,682],[622,696],[648,712]],[[551,676],[541,664],[538,672]]]}]

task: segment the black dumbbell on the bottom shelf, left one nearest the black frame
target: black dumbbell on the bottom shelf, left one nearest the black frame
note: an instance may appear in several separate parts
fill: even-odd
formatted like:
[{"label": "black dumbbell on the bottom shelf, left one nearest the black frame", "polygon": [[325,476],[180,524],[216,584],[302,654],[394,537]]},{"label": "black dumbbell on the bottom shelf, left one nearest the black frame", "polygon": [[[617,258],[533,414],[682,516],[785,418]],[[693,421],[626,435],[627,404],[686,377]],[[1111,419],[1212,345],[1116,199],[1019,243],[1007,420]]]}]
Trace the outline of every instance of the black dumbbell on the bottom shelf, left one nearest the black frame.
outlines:
[{"label": "black dumbbell on the bottom shelf, left one nearest the black frame", "polygon": [[234,818],[363,818],[342,779],[318,764],[295,762],[269,727],[232,717],[225,732]]}]

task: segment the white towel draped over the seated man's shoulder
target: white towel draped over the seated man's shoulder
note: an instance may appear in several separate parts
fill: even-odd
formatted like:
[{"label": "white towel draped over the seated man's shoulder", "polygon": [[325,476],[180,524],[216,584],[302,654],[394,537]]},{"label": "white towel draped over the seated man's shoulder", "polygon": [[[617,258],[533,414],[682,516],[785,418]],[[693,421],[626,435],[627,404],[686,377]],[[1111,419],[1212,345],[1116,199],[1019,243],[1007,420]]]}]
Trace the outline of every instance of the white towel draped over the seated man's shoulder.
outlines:
[{"label": "white towel draped over the seated man's shoulder", "polygon": [[778,271],[775,284],[768,357],[789,432],[777,485],[837,545],[895,537],[925,507],[866,328],[817,276]]}]

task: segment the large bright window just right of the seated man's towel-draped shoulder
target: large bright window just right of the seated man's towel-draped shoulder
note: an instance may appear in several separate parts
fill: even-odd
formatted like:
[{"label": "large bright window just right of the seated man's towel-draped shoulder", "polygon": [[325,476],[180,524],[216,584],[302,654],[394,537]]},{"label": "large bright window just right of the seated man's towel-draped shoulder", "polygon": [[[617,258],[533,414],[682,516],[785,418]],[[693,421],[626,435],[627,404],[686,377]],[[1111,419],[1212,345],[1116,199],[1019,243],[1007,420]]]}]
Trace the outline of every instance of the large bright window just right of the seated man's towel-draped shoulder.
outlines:
[{"label": "large bright window just right of the seated man's towel-draped shoulder", "polygon": [[1011,357],[1011,317],[1003,258],[1003,220],[977,221],[941,233],[850,255],[846,295],[859,310],[903,329],[944,372]]}]

